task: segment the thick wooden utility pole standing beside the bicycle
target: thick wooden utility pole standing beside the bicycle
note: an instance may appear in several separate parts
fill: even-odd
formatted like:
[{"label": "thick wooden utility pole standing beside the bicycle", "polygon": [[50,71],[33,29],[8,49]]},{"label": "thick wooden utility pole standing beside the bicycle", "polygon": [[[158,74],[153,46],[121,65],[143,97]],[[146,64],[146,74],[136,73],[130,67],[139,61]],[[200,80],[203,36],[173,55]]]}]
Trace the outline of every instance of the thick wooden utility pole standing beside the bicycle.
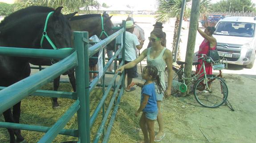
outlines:
[{"label": "thick wooden utility pole standing beside the bicycle", "polygon": [[[191,77],[192,62],[193,62],[194,50],[195,50],[195,39],[196,39],[198,19],[199,19],[199,7],[200,7],[200,0],[192,0],[190,24],[189,24],[188,39],[187,39],[187,52],[186,52],[186,59],[185,59],[186,64],[184,68],[186,78]],[[189,83],[188,80],[185,80],[185,82],[186,82],[186,85]],[[188,92],[189,92],[189,86],[187,87],[187,93]]]}]

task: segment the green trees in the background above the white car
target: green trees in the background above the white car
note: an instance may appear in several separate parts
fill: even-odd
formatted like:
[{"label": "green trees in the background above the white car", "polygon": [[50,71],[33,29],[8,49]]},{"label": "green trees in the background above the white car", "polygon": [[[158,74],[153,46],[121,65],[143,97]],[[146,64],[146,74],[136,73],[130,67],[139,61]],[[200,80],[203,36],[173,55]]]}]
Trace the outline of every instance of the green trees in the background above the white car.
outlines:
[{"label": "green trees in the background above the white car", "polygon": [[[230,4],[231,3],[231,4]],[[214,12],[253,12],[255,11],[255,4],[251,0],[221,0],[213,4]]]}]

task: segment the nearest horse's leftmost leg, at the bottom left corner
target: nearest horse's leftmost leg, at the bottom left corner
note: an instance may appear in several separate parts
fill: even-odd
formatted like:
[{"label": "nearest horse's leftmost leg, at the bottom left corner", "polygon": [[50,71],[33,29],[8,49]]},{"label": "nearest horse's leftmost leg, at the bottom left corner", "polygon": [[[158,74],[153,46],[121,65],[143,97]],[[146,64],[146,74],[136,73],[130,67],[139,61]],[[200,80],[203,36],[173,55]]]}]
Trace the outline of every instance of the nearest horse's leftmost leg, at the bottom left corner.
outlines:
[{"label": "nearest horse's leftmost leg, at the bottom left corner", "polygon": [[[5,122],[14,123],[11,109],[4,111],[3,115],[4,115]],[[14,130],[10,128],[7,128],[7,130],[10,135],[10,143],[15,143]]]}]

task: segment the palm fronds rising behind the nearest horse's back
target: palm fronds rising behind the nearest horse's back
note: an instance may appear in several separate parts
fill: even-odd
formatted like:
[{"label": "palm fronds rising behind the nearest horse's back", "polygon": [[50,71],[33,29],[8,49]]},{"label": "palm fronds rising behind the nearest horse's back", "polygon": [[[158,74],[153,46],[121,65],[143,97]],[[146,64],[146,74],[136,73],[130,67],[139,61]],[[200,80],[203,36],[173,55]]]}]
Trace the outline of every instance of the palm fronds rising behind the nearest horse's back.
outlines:
[{"label": "palm fronds rising behind the nearest horse's back", "polygon": [[79,8],[85,7],[85,10],[89,10],[91,6],[99,6],[97,0],[16,0],[16,6],[18,9],[26,8],[28,6],[47,6],[57,8],[64,7],[64,13],[77,12]]}]

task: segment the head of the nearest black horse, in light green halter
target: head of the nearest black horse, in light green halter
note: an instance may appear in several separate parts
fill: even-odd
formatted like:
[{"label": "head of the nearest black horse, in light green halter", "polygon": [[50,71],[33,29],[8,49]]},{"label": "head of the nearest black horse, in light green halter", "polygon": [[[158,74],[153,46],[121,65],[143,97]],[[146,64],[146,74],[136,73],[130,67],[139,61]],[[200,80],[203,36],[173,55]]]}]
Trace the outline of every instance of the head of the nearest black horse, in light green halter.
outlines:
[{"label": "head of the nearest black horse, in light green halter", "polygon": [[[69,25],[69,17],[61,14],[61,9],[57,8],[52,15],[50,15],[46,32],[49,39],[57,48],[71,47],[71,27]],[[75,14],[75,13],[74,13]],[[73,15],[69,15],[73,16]],[[46,49],[53,49],[46,38],[42,41],[42,47]]]}]

